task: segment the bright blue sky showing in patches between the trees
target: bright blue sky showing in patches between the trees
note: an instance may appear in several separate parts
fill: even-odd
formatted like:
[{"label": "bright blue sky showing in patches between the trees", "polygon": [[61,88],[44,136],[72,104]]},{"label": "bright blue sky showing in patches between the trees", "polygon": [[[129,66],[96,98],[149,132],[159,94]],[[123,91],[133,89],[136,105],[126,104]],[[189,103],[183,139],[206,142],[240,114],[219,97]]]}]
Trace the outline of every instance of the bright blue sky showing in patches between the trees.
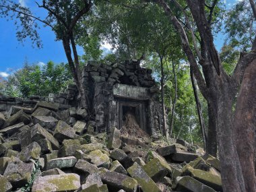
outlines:
[{"label": "bright blue sky showing in patches between the trees", "polygon": [[[32,0],[17,1],[38,11],[36,4]],[[235,1],[227,0],[227,7],[230,7]],[[50,28],[42,27],[38,31],[43,44],[42,49],[33,48],[31,41],[28,39],[24,44],[18,42],[12,20],[7,21],[5,18],[0,18],[0,31],[0,77],[7,77],[12,71],[20,69],[25,61],[28,61],[28,63],[38,63],[39,65],[43,65],[48,61],[55,63],[67,62],[63,46],[61,42],[55,41],[55,34]],[[218,34],[216,36],[216,46],[218,49],[220,49],[223,42],[223,34]],[[106,48],[107,45],[102,47]],[[80,55],[83,53],[81,48],[78,48],[78,52]]]}]

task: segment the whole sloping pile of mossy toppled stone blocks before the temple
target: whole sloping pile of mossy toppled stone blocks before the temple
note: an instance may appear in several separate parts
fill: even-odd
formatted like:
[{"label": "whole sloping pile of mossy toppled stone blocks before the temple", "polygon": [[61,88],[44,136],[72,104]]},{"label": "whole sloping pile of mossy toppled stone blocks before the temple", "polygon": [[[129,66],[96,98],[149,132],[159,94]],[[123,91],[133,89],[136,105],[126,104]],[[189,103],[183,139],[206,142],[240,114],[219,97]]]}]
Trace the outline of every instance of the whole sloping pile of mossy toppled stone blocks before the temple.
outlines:
[{"label": "whole sloping pile of mossy toppled stone blocks before the temple", "polygon": [[0,113],[0,191],[222,191],[220,162],[201,148],[97,133],[83,114],[42,101]]}]

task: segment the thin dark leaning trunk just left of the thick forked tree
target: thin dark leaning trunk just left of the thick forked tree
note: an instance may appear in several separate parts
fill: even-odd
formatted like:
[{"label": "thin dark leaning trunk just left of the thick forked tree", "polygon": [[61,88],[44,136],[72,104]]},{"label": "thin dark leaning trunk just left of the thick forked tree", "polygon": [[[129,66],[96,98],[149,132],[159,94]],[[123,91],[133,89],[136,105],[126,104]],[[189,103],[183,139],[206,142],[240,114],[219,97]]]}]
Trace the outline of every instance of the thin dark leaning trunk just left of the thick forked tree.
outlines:
[{"label": "thin dark leaning trunk just left of the thick forked tree", "polygon": [[202,137],[203,137],[203,148],[204,148],[204,150],[206,150],[207,134],[206,134],[205,124],[203,121],[203,114],[201,112],[201,104],[199,101],[197,88],[195,86],[195,77],[194,77],[193,69],[191,67],[190,67],[190,77],[191,77],[191,83],[192,83],[193,92],[194,92],[194,96],[195,96],[195,103],[197,105],[197,114],[198,114],[199,124],[201,127],[201,132],[202,132]]}]

